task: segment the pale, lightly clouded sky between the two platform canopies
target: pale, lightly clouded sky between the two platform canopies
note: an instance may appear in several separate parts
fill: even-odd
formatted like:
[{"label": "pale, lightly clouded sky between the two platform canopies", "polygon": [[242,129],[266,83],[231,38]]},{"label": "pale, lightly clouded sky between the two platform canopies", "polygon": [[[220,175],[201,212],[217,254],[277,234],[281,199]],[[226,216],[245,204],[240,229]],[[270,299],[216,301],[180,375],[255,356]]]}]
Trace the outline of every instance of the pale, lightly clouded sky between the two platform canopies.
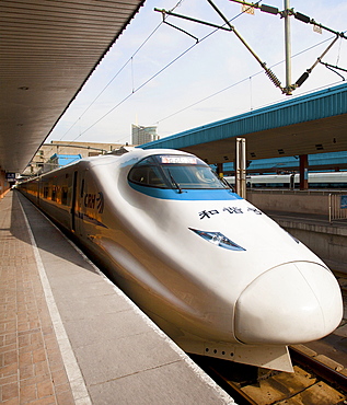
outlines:
[{"label": "pale, lightly clouded sky between the two platform canopies", "polygon": [[[290,8],[336,32],[347,31],[346,0],[288,0]],[[213,0],[263,62],[286,85],[285,21],[241,4]],[[266,0],[284,10],[285,0]],[[233,32],[167,16],[173,10],[213,24],[223,21],[207,0],[147,0],[126,27],[66,114],[47,138],[53,140],[131,143],[131,124],[157,126],[161,138],[246,113],[288,97],[343,83],[317,63],[309,79],[288,96],[274,85],[258,61]],[[311,68],[335,35],[290,19],[291,83]],[[347,35],[347,33],[346,33]],[[338,38],[323,62],[347,69],[347,39]],[[347,78],[347,72],[337,70]]]}]

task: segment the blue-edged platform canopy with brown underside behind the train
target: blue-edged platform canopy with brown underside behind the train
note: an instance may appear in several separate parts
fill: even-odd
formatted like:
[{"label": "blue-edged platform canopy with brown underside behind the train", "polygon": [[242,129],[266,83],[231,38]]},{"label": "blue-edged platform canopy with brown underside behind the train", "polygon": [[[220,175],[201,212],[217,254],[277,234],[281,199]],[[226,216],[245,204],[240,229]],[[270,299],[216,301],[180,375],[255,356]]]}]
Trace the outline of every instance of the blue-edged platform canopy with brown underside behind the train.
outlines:
[{"label": "blue-edged platform canopy with brown underside behind the train", "polygon": [[210,164],[233,162],[235,138],[246,139],[248,161],[347,151],[347,84],[193,128],[141,146],[172,148]]}]

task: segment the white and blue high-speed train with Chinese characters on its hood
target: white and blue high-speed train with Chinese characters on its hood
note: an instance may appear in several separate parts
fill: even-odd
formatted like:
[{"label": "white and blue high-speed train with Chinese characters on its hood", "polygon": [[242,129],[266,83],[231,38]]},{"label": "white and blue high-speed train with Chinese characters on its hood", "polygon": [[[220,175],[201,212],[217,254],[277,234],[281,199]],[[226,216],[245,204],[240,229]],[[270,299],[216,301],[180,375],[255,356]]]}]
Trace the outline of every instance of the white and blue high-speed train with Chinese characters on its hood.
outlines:
[{"label": "white and blue high-speed train with Chinese characters on its hood", "polygon": [[136,149],[18,188],[185,351],[292,371],[343,316],[326,265],[193,154]]}]

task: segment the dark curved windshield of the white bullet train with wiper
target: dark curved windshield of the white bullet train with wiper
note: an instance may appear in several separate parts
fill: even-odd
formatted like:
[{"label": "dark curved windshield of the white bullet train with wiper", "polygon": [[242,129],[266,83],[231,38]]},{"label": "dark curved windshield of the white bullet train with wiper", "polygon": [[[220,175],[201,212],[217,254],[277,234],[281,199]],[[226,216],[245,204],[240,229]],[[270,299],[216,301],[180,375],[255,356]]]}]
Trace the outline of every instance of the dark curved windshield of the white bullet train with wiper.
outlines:
[{"label": "dark curved windshield of the white bullet train with wiper", "polygon": [[200,159],[182,154],[160,154],[138,162],[129,181],[148,187],[182,189],[229,188]]}]

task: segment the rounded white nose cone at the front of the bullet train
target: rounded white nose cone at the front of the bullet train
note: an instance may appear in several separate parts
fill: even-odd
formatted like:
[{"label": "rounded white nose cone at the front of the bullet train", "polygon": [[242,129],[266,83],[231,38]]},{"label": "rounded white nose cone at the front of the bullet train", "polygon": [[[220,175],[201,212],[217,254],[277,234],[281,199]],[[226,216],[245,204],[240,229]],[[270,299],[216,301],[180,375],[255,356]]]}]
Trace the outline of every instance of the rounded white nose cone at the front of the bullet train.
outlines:
[{"label": "rounded white nose cone at the front of the bullet train", "polygon": [[245,344],[298,344],[332,333],[343,316],[334,275],[310,262],[274,267],[255,279],[235,308],[235,336]]}]

